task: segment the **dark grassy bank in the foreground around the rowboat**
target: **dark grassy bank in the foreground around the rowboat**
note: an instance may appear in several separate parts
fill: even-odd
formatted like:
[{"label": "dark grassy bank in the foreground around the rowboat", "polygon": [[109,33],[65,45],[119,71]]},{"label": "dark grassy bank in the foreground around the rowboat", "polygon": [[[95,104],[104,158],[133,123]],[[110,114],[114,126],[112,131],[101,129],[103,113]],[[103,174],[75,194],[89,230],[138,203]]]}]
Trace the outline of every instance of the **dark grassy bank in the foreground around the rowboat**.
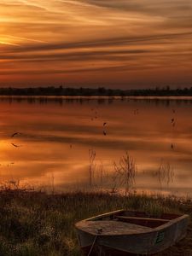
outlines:
[{"label": "dark grassy bank in the foreground around the rowboat", "polygon": [[[20,190],[0,192],[0,255],[80,256],[73,225],[83,218],[119,208],[151,213],[192,214],[191,201],[147,195],[73,193],[46,195]],[[161,255],[192,255],[192,223],[188,236]]]}]

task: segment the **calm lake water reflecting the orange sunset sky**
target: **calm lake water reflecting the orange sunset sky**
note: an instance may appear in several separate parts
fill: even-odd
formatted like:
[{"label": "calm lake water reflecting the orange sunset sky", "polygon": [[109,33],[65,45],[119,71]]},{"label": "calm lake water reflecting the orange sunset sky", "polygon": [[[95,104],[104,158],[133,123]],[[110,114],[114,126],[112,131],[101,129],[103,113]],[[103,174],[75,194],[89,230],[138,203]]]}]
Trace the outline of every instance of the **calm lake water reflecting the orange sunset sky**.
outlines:
[{"label": "calm lake water reflecting the orange sunset sky", "polygon": [[192,100],[2,97],[1,183],[88,187],[92,150],[92,185],[112,189],[113,163],[128,152],[137,166],[132,189],[191,196],[191,113]]}]

